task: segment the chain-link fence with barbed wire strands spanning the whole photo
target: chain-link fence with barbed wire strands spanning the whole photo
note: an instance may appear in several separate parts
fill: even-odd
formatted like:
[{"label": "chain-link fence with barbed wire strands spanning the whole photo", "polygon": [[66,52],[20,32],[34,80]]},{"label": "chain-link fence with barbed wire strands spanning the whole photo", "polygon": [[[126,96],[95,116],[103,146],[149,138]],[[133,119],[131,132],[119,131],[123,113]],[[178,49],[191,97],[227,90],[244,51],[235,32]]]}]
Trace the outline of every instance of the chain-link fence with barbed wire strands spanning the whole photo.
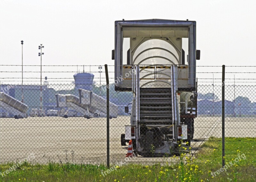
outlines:
[{"label": "chain-link fence with barbed wire strands spanning the whole photo", "polygon": [[[226,67],[225,152],[233,156],[250,145],[251,151],[243,151],[250,159],[256,147],[256,78],[254,67],[244,68]],[[121,80],[129,89],[121,90],[114,66],[108,66],[110,163],[126,159],[132,140],[138,157],[126,162],[173,162],[170,156],[190,150],[205,162],[209,158],[200,154],[213,153],[212,162],[221,164],[221,67],[197,67],[196,85],[190,86],[189,72],[182,69],[187,68],[137,67]],[[0,162],[33,154],[35,163],[106,163],[104,67],[44,65],[43,78],[40,66],[18,70],[20,65],[1,65]]]}]

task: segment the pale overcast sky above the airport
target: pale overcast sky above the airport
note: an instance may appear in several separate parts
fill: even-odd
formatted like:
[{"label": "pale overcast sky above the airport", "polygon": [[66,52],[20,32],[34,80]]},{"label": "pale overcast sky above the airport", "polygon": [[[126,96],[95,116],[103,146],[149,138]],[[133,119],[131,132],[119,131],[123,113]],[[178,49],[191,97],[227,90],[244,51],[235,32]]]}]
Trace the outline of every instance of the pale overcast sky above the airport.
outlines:
[{"label": "pale overcast sky above the airport", "polygon": [[[166,0],[166,1],[84,1],[84,0],[0,0],[0,64],[40,65],[38,46],[43,44],[43,65],[113,65],[114,21],[134,19],[177,19],[197,22],[197,49],[201,50],[199,66],[256,65],[255,1],[234,0]],[[1,71],[11,71],[1,66]],[[47,70],[48,69],[48,70]],[[50,71],[73,71],[76,67],[44,68]],[[82,67],[79,67],[80,72]],[[39,67],[25,67],[24,71]],[[227,68],[227,71],[251,71],[255,68]],[[21,71],[12,67],[12,71]],[[86,67],[89,72],[89,67]],[[92,68],[99,77],[98,67]],[[110,71],[113,71],[110,68]],[[221,67],[198,67],[198,72],[221,72]],[[1,78],[19,74],[3,73]],[[35,73],[34,77],[40,77]],[[50,78],[72,78],[74,73],[43,73]],[[255,74],[254,74],[255,75]],[[24,77],[29,77],[24,73]],[[33,75],[32,75],[33,76]],[[198,73],[212,78],[212,73]],[[215,78],[220,74],[215,74]],[[226,75],[234,77],[234,73]],[[241,77],[241,74],[240,74]],[[252,74],[243,78],[255,78]],[[18,80],[18,79],[17,79]],[[0,81],[5,81],[1,79]],[[72,80],[71,80],[72,81]]]}]

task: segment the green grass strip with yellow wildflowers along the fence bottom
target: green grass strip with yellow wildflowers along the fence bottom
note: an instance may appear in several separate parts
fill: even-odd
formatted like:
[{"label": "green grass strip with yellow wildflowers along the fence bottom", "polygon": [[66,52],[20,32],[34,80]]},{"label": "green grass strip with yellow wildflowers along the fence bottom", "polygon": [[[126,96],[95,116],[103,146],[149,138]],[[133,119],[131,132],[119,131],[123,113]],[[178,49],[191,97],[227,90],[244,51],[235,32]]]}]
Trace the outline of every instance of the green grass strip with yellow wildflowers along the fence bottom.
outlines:
[{"label": "green grass strip with yellow wildflowers along the fence bottom", "polygon": [[[212,172],[221,168],[221,139],[210,138],[202,150],[191,154],[173,156],[165,165],[127,164],[115,166],[107,173],[105,165],[52,163],[47,165],[23,163],[15,171],[0,176],[0,181],[255,181],[256,140],[254,138],[226,138],[226,162],[232,162],[227,171],[212,178]],[[189,148],[187,148],[189,150]],[[238,156],[244,154],[246,158]],[[0,165],[4,172],[15,163]]]}]

